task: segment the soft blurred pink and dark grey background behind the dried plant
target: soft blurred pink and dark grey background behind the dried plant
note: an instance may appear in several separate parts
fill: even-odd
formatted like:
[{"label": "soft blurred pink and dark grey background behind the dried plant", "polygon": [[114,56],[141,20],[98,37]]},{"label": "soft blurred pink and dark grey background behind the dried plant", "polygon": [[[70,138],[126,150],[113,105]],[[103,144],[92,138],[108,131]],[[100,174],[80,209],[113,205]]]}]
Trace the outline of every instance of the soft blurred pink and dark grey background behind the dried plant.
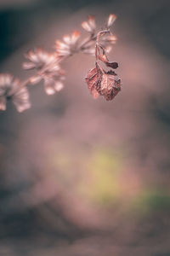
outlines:
[{"label": "soft blurred pink and dark grey background behind the dried plant", "polygon": [[32,86],[30,110],[0,113],[2,256],[170,256],[170,2],[0,0],[0,72],[28,78],[28,49],[110,13],[112,102],[89,95],[94,58],[80,54],[63,62],[64,90]]}]

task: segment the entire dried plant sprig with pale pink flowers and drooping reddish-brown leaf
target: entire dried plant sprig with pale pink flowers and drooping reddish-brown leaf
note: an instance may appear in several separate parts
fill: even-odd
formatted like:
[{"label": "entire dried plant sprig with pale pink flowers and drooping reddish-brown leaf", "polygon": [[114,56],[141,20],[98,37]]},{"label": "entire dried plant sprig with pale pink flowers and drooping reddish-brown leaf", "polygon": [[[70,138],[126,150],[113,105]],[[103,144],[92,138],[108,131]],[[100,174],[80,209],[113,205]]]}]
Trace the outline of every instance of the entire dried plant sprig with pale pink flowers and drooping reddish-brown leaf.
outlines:
[{"label": "entire dried plant sprig with pale pink flowers and drooping reddish-brown leaf", "polygon": [[[80,32],[74,31],[71,35],[65,35],[63,41],[56,40],[55,51],[52,53],[39,48],[28,51],[25,55],[27,61],[22,67],[26,70],[34,69],[36,73],[23,82],[14,79],[11,74],[0,74],[0,110],[6,109],[6,102],[9,100],[14,102],[19,112],[31,108],[26,87],[30,84],[43,81],[48,95],[63,89],[65,71],[60,67],[60,63],[80,51],[95,56],[95,67],[89,71],[85,79],[92,96],[104,96],[107,101],[112,100],[121,90],[121,79],[113,71],[118,64],[109,61],[106,55],[116,43],[116,36],[111,32],[115,20],[116,15],[110,15],[105,29],[97,32],[94,16],[89,16],[87,21],[82,22],[82,28],[88,32],[88,38],[81,40]],[[106,67],[111,67],[111,70],[105,71],[100,67],[99,61],[105,63]]]}]

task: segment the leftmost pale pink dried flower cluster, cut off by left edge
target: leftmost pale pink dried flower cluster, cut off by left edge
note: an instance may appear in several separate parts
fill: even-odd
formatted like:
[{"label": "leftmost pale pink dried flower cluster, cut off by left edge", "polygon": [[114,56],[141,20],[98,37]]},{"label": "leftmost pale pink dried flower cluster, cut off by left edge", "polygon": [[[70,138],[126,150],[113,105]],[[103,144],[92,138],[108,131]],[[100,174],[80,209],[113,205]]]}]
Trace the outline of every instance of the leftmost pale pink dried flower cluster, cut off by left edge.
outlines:
[{"label": "leftmost pale pink dried flower cluster, cut off by left edge", "polygon": [[11,100],[19,112],[31,107],[26,86],[8,73],[0,74],[0,109],[6,110],[6,102]]}]

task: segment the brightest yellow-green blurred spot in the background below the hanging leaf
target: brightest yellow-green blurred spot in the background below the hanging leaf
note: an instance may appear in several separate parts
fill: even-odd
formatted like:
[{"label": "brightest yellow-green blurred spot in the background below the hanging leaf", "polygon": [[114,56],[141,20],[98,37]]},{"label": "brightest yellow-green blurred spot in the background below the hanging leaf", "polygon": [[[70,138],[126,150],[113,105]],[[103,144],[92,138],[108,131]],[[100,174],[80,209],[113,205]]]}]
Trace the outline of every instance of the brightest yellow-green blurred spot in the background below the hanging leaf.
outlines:
[{"label": "brightest yellow-green blurred spot in the background below the hanging leaf", "polygon": [[99,148],[94,151],[87,164],[87,182],[81,186],[83,195],[101,205],[110,205],[117,201],[120,194],[121,167],[120,155],[111,149]]}]

